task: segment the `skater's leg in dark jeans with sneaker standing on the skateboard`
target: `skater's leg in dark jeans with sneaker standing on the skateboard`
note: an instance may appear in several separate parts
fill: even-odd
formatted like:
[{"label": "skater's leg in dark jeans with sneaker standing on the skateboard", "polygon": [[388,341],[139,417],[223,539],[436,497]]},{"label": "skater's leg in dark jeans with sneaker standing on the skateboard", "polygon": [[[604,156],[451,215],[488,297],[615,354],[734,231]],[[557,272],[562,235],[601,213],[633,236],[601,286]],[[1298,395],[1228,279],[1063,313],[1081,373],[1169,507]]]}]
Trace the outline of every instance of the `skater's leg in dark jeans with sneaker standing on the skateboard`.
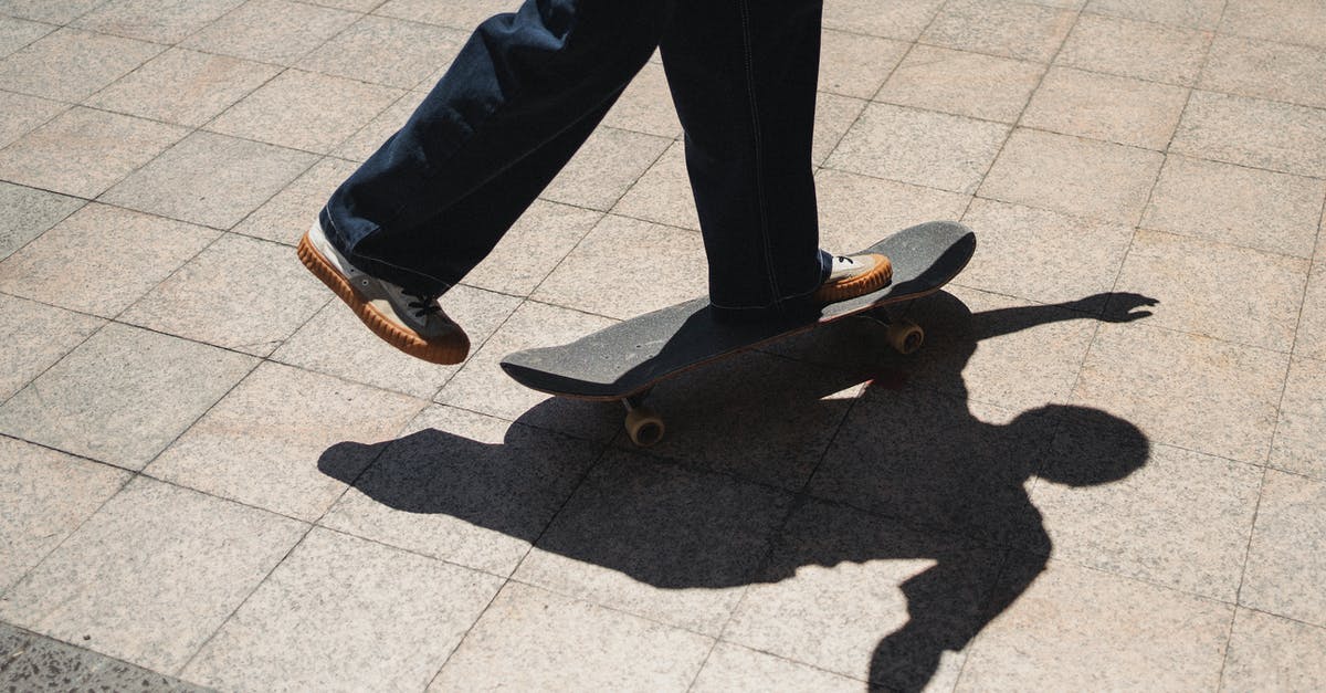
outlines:
[{"label": "skater's leg in dark jeans with sneaker standing on the skateboard", "polygon": [[[819,250],[810,162],[821,0],[684,0],[662,42],[725,317],[800,313],[883,285],[879,256]],[[833,287],[825,287],[833,273]],[[839,281],[841,280],[841,281]],[[825,291],[821,287],[825,287]]]}]

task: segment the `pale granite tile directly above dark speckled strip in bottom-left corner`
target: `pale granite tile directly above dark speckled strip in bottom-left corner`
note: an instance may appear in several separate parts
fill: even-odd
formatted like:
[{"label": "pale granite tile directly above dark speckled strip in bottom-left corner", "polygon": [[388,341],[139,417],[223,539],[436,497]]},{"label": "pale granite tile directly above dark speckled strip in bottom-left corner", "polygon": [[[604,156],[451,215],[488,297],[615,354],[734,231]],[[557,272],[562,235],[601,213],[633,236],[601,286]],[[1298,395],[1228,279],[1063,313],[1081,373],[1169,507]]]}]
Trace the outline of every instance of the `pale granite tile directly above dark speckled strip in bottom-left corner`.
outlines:
[{"label": "pale granite tile directly above dark speckled strip in bottom-left corner", "polygon": [[138,478],[0,601],[24,628],[176,670],[305,526]]}]

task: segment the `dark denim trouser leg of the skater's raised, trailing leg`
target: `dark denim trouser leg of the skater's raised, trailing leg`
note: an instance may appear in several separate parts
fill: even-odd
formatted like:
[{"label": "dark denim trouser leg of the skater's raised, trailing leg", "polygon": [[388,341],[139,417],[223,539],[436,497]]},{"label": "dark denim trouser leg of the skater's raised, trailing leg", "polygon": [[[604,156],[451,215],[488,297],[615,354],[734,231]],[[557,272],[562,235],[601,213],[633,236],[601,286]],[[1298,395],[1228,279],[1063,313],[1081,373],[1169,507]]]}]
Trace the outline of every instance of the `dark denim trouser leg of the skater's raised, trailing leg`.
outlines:
[{"label": "dark denim trouser leg of the skater's raised, trailing leg", "polygon": [[[446,291],[583,142],[670,15],[671,0],[528,0],[483,23],[404,127],[333,194],[329,239],[375,276]],[[518,185],[503,204],[457,218],[505,173]]]}]

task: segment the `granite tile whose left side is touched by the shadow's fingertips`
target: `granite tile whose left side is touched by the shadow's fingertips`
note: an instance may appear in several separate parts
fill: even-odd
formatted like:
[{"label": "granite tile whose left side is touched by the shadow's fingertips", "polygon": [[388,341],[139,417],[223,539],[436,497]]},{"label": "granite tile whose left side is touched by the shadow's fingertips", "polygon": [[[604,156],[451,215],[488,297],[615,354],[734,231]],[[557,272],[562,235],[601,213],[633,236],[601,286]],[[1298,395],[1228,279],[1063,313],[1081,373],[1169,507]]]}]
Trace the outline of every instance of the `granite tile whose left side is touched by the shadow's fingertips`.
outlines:
[{"label": "granite tile whose left side is touched by the shadow's fingertips", "polygon": [[1140,230],[1116,288],[1159,299],[1151,325],[1289,352],[1307,268],[1301,258]]}]

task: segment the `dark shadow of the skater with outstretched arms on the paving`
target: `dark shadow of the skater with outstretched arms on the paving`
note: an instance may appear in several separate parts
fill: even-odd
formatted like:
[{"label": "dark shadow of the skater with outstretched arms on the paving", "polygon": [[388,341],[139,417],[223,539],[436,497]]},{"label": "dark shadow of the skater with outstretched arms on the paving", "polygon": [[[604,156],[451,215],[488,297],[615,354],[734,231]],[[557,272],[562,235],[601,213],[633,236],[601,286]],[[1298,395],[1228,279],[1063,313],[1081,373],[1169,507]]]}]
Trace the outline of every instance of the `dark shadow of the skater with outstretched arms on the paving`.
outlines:
[{"label": "dark shadow of the skater with outstretched arms on the paving", "polygon": [[[773,584],[806,566],[842,562],[932,560],[932,567],[898,585],[908,620],[880,633],[870,662],[871,684],[919,690],[945,651],[967,647],[1044,570],[1050,539],[1024,485],[1033,478],[1070,486],[1110,483],[1143,466],[1150,450],[1136,426],[1089,408],[1042,406],[1008,424],[977,418],[973,409],[991,406],[968,401],[961,376],[977,344],[1055,321],[1136,320],[1151,315],[1140,308],[1152,304],[1144,296],[1113,293],[972,315],[941,292],[914,305],[931,341],[915,357],[863,346],[871,325],[843,321],[793,341],[782,356],[794,358],[753,354],[749,364],[733,358],[733,370],[762,370],[762,386],[777,392],[761,396],[788,414],[778,426],[805,429],[789,431],[793,438],[813,437],[818,422],[847,417],[829,453],[793,485],[800,489],[796,497],[741,482],[688,483],[693,474],[662,461],[605,471],[617,459],[611,455],[586,475],[587,462],[556,462],[569,459],[556,450],[560,443],[549,442],[557,435],[520,425],[507,430],[501,445],[436,429],[374,446],[343,442],[322,454],[318,469],[391,508],[446,514],[663,589]],[[839,364],[834,377],[780,378],[780,369],[790,373],[798,366],[796,357],[823,358],[826,346],[846,349],[839,353],[850,365]],[[1010,372],[1018,368],[1008,364]],[[792,392],[780,389],[784,380],[794,384]],[[873,386],[859,402],[829,397],[867,380]],[[749,397],[705,382],[701,370],[660,389],[692,390],[684,397],[705,404],[712,418]],[[517,424],[566,416],[621,414],[602,405],[550,400]],[[674,437],[686,434],[684,424],[676,429]],[[723,429],[727,462],[716,466],[748,477],[743,463],[761,459],[740,459],[743,451],[766,453],[768,431],[758,425]],[[674,447],[680,451],[664,446],[656,454],[687,457],[684,441]],[[373,458],[365,470],[363,461]],[[753,490],[732,490],[737,486]]]}]

